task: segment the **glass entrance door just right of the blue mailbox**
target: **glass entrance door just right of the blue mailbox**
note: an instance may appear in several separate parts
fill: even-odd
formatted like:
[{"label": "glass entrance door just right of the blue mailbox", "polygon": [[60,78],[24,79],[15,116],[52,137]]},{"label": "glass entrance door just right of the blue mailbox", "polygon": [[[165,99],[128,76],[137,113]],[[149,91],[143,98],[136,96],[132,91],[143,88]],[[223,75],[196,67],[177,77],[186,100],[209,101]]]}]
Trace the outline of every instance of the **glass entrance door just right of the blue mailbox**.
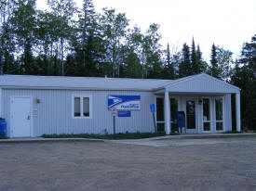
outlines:
[{"label": "glass entrance door just right of the blue mailbox", "polygon": [[195,99],[186,99],[186,128],[187,133],[197,133]]}]

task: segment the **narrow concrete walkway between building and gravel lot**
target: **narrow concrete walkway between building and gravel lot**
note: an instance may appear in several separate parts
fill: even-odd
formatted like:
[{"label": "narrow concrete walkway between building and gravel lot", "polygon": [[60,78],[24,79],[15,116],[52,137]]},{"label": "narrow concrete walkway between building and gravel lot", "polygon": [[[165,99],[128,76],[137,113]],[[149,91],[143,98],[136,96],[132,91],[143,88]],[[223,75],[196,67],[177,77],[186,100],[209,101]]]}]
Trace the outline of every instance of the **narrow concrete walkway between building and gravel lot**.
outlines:
[{"label": "narrow concrete walkway between building and gravel lot", "polygon": [[91,141],[91,142],[144,142],[157,140],[177,140],[177,139],[211,139],[211,138],[232,138],[232,137],[256,137],[256,134],[180,134],[166,135],[143,139],[93,139],[93,138],[9,138],[0,139],[0,143],[18,143],[18,142],[53,142],[53,141]]}]

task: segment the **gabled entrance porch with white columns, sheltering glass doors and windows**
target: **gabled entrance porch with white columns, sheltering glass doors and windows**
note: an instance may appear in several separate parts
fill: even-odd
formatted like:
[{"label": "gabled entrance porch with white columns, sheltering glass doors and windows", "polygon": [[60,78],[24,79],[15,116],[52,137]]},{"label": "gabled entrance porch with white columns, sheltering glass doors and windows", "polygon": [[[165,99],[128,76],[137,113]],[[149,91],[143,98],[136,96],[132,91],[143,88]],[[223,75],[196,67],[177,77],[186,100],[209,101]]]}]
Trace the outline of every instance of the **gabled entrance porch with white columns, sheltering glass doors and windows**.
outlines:
[{"label": "gabled entrance porch with white columns, sheltering glass doors and windows", "polygon": [[183,111],[187,134],[232,131],[232,94],[236,94],[236,131],[240,132],[240,90],[207,74],[188,77],[187,81],[169,83],[155,90],[157,130],[166,134],[173,132],[174,114]]}]

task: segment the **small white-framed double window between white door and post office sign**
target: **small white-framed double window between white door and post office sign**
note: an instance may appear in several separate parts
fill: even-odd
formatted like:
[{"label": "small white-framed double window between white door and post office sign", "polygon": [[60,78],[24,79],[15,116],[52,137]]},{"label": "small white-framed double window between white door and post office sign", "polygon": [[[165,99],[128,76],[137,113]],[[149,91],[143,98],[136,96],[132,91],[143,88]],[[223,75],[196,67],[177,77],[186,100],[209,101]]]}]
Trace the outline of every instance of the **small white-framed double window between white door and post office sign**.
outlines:
[{"label": "small white-framed double window between white door and post office sign", "polygon": [[91,119],[92,118],[92,97],[88,95],[72,96],[72,118]]}]

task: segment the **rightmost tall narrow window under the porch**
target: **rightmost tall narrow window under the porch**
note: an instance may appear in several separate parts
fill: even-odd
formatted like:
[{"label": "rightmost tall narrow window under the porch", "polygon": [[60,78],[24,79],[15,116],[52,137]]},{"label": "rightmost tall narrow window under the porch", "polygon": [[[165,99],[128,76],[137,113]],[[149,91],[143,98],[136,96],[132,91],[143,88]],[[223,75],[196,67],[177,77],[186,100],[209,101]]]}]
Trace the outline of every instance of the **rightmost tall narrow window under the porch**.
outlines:
[{"label": "rightmost tall narrow window under the porch", "polygon": [[215,97],[216,131],[223,131],[223,97]]}]

